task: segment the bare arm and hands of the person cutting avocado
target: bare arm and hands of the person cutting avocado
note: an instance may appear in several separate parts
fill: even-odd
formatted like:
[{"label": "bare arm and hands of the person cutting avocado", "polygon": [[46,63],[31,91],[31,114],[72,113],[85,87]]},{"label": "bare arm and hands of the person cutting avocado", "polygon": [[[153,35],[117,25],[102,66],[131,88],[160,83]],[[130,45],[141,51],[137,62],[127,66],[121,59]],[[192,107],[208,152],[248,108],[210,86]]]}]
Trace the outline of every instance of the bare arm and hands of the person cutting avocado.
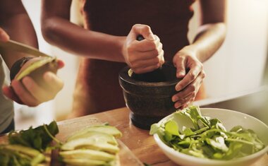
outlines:
[{"label": "bare arm and hands of the person cutting avocado", "polygon": [[[6,42],[9,38],[32,47],[38,47],[35,30],[20,0],[0,0],[0,40]],[[9,69],[15,61],[23,57],[32,57],[29,54],[14,52],[9,49],[1,49],[0,54]],[[36,59],[38,57],[30,59],[23,66]],[[64,65],[63,61],[60,60],[58,64],[59,68]],[[13,79],[11,85],[4,85],[2,92],[6,97],[20,104],[31,107],[37,106],[42,102],[53,99],[63,87],[63,82],[54,73],[47,71],[40,77],[44,78],[44,83],[46,83],[44,87],[37,84],[35,78],[25,76],[21,81]]]}]

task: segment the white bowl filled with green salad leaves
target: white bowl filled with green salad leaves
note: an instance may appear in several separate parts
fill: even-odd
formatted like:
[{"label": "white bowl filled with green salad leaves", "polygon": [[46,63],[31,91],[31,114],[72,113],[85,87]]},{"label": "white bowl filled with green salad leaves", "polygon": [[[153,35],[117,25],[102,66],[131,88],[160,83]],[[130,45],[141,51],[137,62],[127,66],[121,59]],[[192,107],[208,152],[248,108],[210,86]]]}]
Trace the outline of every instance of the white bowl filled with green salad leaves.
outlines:
[{"label": "white bowl filled with green salad leaves", "polygon": [[179,165],[250,165],[268,151],[268,126],[248,114],[190,106],[157,124],[150,134]]}]

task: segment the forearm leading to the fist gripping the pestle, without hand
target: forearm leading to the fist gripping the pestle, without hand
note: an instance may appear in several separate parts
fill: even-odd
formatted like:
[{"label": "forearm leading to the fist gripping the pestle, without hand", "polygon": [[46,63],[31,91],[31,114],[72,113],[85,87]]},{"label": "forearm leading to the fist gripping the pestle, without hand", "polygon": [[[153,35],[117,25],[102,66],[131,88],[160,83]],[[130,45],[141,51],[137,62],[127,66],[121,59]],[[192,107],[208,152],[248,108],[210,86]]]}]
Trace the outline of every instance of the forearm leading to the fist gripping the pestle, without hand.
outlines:
[{"label": "forearm leading to the fist gripping the pestle, without hand", "polygon": [[42,34],[51,45],[92,59],[123,62],[126,37],[85,30],[59,17],[42,19]]}]

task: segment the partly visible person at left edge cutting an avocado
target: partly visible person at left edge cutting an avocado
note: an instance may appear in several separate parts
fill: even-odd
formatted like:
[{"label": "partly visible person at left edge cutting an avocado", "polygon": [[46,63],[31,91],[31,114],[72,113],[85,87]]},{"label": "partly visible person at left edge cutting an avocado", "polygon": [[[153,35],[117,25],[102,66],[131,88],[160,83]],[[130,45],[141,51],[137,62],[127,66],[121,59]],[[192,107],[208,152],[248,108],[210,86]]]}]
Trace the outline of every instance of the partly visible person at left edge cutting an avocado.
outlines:
[{"label": "partly visible person at left edge cutting an avocado", "polygon": [[[8,42],[9,39],[38,47],[35,30],[20,0],[0,0],[0,42]],[[21,68],[38,57],[4,48],[0,48],[0,54],[0,85],[2,87],[0,88],[0,134],[4,134],[15,128],[13,101],[35,107],[53,99],[63,88],[63,82],[54,73],[47,71],[42,76],[47,83],[45,87],[37,85],[29,76],[25,76],[22,81],[13,80],[8,85],[4,63],[8,69],[11,69],[14,64]],[[62,68],[63,61],[57,62],[59,68]]]}]

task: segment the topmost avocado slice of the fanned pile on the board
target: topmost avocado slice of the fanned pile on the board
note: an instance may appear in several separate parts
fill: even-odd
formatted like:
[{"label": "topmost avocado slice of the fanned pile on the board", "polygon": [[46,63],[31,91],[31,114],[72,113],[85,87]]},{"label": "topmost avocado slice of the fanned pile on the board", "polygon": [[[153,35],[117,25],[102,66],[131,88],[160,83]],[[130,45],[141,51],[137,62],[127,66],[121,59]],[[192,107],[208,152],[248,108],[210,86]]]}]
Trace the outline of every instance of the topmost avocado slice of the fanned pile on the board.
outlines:
[{"label": "topmost avocado slice of the fanned pile on the board", "polygon": [[89,131],[98,131],[104,134],[111,134],[115,136],[116,138],[119,138],[122,136],[121,131],[116,129],[114,126],[106,126],[106,125],[96,125],[96,126],[90,126],[85,129],[82,129],[80,131],[77,131],[75,134],[70,136],[67,141],[73,140],[74,138],[79,138],[80,135],[86,134]]}]

